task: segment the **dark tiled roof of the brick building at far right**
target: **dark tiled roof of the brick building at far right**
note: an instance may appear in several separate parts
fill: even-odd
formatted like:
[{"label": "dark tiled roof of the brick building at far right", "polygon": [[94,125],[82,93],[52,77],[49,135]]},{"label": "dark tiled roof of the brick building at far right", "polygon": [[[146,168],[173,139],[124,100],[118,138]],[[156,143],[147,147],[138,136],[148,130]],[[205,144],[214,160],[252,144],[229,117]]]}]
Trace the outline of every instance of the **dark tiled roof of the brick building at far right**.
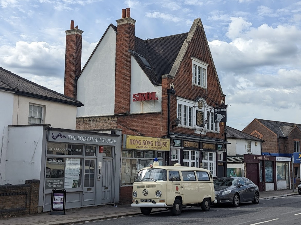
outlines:
[{"label": "dark tiled roof of the brick building at far right", "polygon": [[272,120],[265,120],[265,119],[255,119],[255,120],[260,122],[266,128],[273,131],[279,137],[287,137],[287,135],[290,134],[290,132],[295,127],[297,127],[301,131],[301,124],[272,121]]}]

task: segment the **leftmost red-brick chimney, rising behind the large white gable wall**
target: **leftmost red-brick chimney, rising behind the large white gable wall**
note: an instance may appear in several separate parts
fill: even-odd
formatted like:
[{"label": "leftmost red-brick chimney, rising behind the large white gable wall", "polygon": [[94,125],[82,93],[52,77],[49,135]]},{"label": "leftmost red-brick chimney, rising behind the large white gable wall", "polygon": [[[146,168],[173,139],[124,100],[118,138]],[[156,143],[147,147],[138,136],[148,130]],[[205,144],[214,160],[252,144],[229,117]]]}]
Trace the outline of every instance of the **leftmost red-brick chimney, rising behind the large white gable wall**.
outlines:
[{"label": "leftmost red-brick chimney, rising behind the large white gable wall", "polygon": [[74,28],[74,20],[71,20],[70,30],[66,32],[65,54],[65,82],[64,95],[76,99],[77,78],[81,71],[82,63],[82,30],[78,26]]}]

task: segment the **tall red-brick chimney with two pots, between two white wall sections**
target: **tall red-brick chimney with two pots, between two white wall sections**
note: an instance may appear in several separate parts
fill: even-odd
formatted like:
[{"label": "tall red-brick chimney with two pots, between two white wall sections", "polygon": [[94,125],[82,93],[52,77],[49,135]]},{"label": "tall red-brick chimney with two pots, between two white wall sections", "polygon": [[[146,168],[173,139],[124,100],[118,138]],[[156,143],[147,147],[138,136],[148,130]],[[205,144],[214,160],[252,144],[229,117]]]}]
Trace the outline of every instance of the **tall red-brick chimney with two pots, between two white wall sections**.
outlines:
[{"label": "tall red-brick chimney with two pots, between two white wall sections", "polygon": [[130,8],[122,9],[121,19],[116,20],[115,64],[115,114],[130,112],[131,101],[131,54],[135,50],[135,19]]}]

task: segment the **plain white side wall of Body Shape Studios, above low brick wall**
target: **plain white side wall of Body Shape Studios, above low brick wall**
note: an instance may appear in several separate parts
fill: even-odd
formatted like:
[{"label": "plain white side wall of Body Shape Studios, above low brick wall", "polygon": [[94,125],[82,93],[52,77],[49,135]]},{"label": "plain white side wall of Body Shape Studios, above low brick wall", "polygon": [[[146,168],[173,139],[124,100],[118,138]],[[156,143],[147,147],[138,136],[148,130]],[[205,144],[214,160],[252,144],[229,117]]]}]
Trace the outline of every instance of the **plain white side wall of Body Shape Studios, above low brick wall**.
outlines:
[{"label": "plain white side wall of Body Shape Studios, above low brick wall", "polygon": [[5,184],[25,184],[28,179],[41,179],[43,129],[44,126],[8,128]]}]

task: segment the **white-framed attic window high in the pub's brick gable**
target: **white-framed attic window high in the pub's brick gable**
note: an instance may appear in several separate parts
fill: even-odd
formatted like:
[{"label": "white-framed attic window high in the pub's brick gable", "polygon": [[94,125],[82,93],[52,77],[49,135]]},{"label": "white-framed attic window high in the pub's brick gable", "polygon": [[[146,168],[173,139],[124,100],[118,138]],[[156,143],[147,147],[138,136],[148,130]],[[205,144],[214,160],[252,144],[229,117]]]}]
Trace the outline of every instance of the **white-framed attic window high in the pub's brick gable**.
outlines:
[{"label": "white-framed attic window high in the pub's brick gable", "polygon": [[208,63],[195,57],[192,60],[192,83],[202,88],[207,88],[207,67]]}]

